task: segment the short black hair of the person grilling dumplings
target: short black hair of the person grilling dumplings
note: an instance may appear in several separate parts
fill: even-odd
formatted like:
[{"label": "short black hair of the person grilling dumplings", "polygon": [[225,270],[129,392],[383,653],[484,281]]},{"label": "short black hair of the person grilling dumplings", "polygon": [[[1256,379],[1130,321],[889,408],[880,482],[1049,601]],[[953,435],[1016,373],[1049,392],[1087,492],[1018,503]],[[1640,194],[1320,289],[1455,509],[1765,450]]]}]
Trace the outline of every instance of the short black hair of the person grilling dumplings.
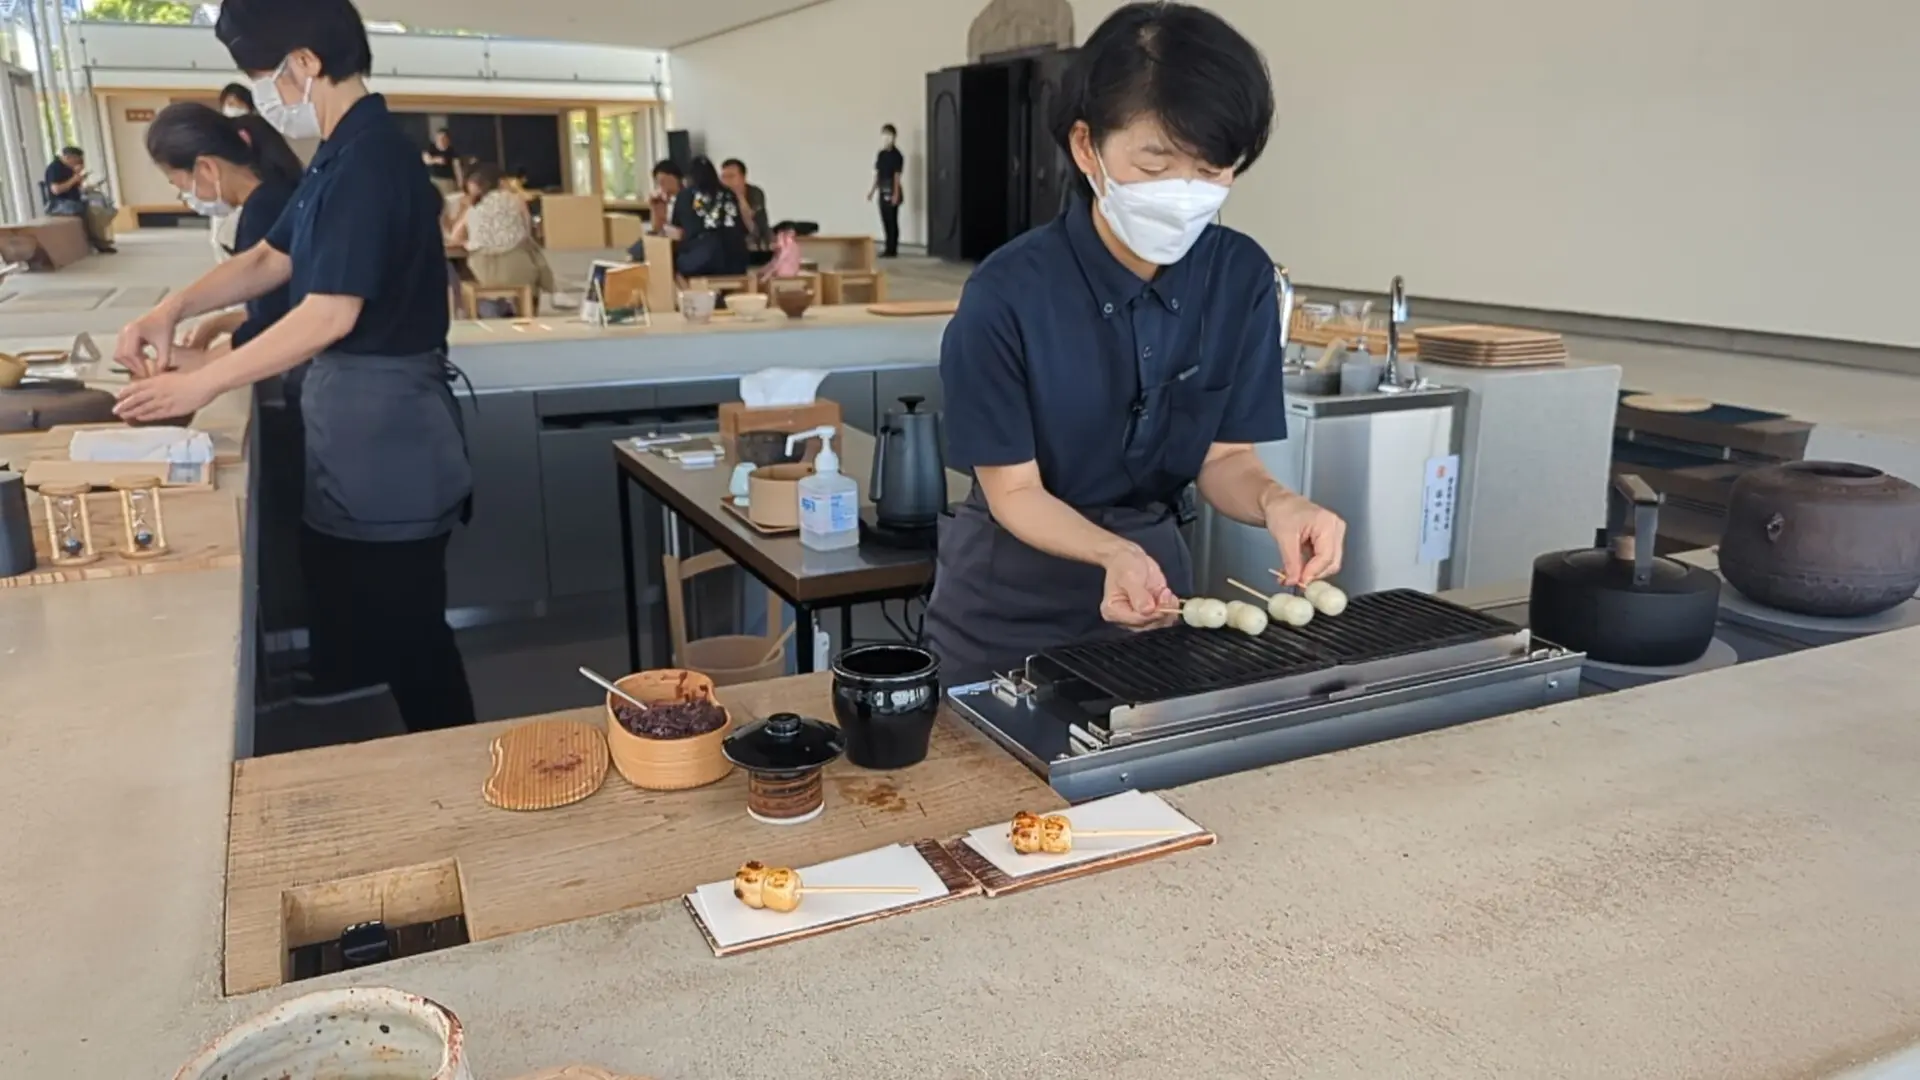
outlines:
[{"label": "short black hair of the person grilling dumplings", "polygon": [[[1098,146],[1142,115],[1208,165],[1244,173],[1273,133],[1273,75],[1250,40],[1192,4],[1127,4],[1087,38],[1054,108],[1054,140],[1073,154],[1085,121]],[[1081,177],[1092,194],[1092,181]]]}]

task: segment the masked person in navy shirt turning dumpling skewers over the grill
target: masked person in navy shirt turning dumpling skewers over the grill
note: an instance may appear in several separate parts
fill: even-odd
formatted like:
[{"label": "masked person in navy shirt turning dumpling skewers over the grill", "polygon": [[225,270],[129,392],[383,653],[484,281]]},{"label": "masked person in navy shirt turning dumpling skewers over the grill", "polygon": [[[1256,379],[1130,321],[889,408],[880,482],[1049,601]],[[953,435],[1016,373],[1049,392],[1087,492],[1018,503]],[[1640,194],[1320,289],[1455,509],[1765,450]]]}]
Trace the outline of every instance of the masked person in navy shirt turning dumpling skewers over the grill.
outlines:
[{"label": "masked person in navy shirt turning dumpling skewers over the grill", "polygon": [[968,281],[941,348],[950,461],[927,634],[948,684],[1169,621],[1190,596],[1187,490],[1273,532],[1306,584],[1342,521],[1281,488],[1273,259],[1213,225],[1273,125],[1260,52],[1188,4],[1129,4],[1079,50],[1054,136],[1083,188]]}]

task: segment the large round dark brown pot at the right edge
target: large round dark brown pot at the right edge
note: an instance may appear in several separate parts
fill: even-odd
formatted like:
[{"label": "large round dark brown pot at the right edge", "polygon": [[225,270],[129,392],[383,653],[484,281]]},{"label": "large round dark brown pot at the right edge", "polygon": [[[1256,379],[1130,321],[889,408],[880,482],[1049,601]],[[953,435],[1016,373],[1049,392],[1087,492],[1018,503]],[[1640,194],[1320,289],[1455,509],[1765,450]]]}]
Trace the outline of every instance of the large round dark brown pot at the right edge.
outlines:
[{"label": "large round dark brown pot at the right edge", "polygon": [[1887,611],[1920,590],[1920,488],[1839,461],[1755,469],[1734,482],[1720,575],[1782,611]]}]

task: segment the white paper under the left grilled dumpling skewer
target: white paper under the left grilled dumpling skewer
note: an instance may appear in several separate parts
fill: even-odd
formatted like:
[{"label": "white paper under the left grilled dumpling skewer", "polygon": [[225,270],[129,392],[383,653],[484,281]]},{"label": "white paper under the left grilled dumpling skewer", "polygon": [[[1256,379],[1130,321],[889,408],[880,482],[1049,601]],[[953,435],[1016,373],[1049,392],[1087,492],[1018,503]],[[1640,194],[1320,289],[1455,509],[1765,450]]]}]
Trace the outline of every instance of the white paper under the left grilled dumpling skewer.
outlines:
[{"label": "white paper under the left grilled dumpling skewer", "polygon": [[829,926],[895,907],[912,907],[947,896],[947,882],[904,844],[849,855],[816,867],[799,867],[801,886],[914,886],[914,896],[801,896],[799,911],[756,911],[733,896],[733,878],[705,884],[689,894],[701,922],[722,949],[778,938],[812,926]]}]

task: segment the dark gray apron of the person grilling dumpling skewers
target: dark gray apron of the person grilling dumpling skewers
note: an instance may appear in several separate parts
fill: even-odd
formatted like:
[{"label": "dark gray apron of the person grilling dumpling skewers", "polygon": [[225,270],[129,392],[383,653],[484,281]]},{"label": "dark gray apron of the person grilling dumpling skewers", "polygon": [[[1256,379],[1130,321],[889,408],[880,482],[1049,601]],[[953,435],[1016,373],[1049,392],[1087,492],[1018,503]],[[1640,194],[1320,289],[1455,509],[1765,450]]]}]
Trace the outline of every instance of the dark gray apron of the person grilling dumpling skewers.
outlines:
[{"label": "dark gray apron of the person grilling dumpling skewers", "polygon": [[[1081,513],[1144,548],[1175,596],[1192,592],[1192,553],[1171,509]],[[977,486],[941,519],[937,567],[927,648],[941,657],[943,686],[993,678],[1041,650],[1127,634],[1100,617],[1106,571],[1029,548],[993,519]]]}]

